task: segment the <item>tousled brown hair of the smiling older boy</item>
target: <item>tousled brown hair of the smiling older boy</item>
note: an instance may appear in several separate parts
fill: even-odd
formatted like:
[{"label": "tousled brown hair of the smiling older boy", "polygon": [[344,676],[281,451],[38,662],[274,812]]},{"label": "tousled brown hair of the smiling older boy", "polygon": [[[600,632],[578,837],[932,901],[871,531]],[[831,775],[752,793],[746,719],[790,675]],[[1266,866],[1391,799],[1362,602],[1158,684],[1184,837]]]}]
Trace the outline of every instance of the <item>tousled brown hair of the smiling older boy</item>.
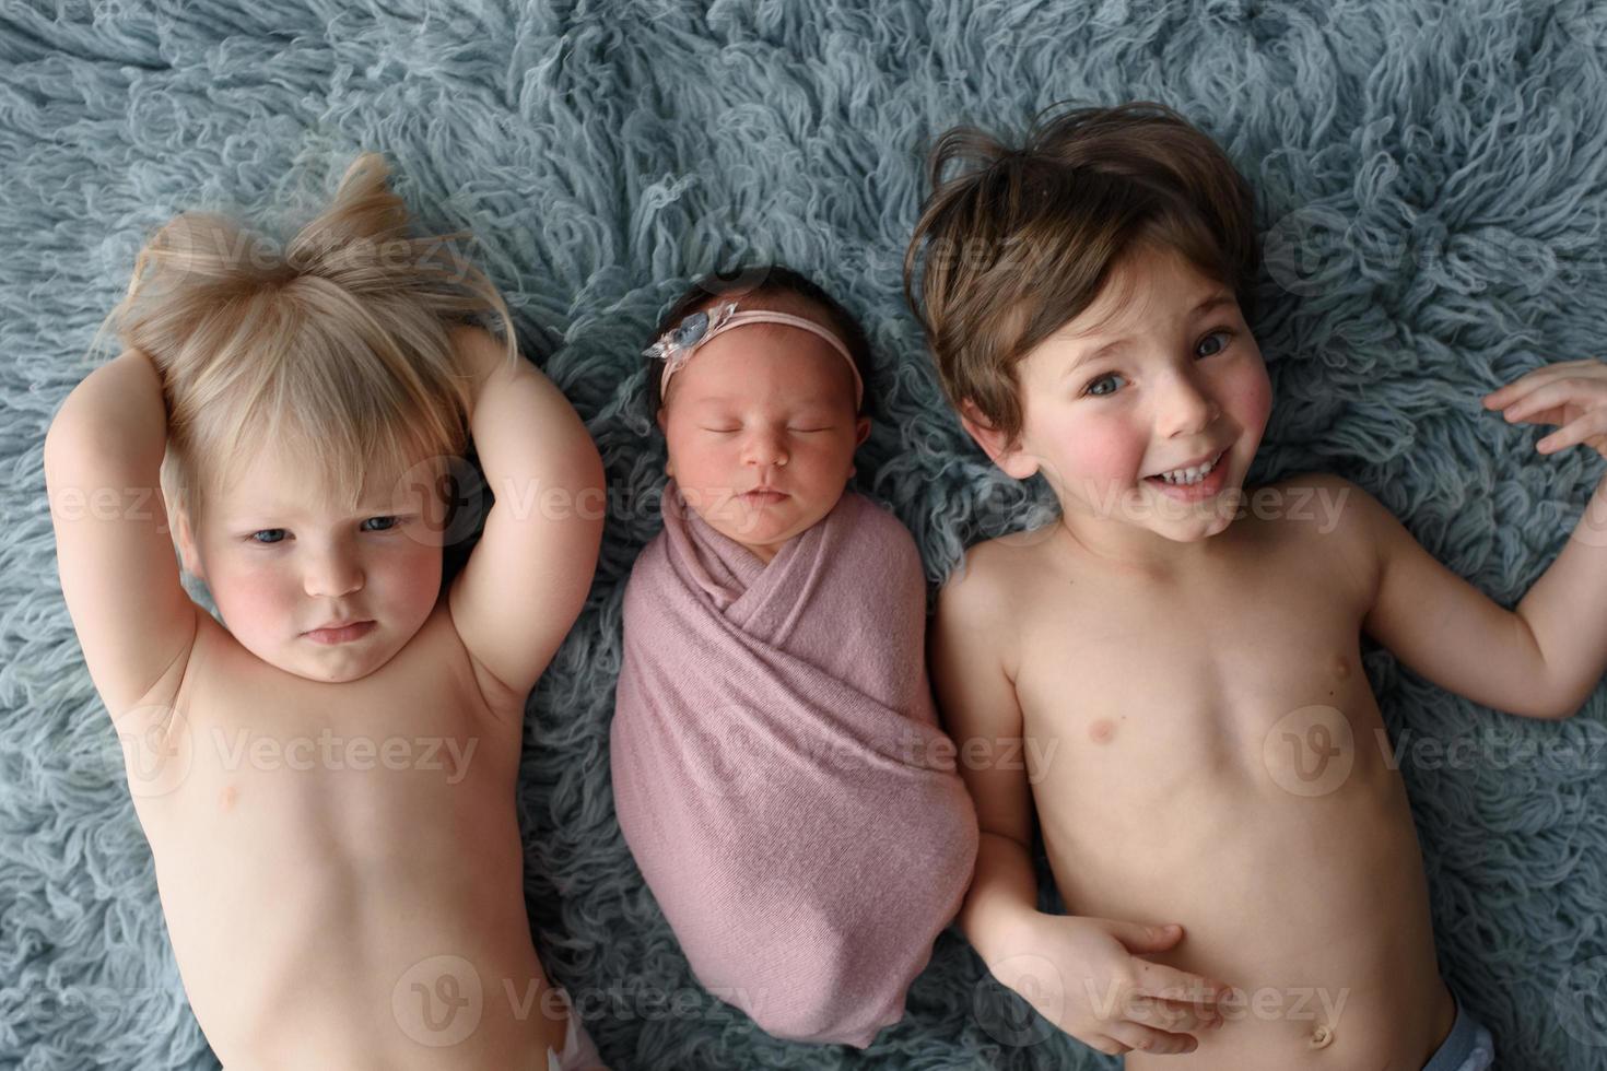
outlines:
[{"label": "tousled brown hair of the smiling older boy", "polygon": [[[1022,427],[1016,363],[1086,310],[1135,244],[1180,252],[1231,287],[1247,320],[1260,268],[1249,185],[1183,116],[1152,101],[1056,108],[1019,149],[972,125],[945,132],[905,252],[905,300],[943,392],[1009,442]],[[945,180],[951,162],[969,167]]]}]

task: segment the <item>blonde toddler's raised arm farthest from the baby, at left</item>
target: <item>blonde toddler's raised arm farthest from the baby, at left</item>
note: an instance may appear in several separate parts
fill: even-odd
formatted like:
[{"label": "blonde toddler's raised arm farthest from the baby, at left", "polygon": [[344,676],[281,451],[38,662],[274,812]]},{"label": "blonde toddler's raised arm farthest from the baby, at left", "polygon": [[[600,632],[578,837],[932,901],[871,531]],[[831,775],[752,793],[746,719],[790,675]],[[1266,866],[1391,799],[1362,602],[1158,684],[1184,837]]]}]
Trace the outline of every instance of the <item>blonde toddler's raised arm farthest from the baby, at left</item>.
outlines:
[{"label": "blonde toddler's raised arm farthest from the baby, at left", "polygon": [[196,634],[167,530],[166,446],[161,377],[140,350],[92,371],[45,435],[61,594],[112,716],[141,702]]}]

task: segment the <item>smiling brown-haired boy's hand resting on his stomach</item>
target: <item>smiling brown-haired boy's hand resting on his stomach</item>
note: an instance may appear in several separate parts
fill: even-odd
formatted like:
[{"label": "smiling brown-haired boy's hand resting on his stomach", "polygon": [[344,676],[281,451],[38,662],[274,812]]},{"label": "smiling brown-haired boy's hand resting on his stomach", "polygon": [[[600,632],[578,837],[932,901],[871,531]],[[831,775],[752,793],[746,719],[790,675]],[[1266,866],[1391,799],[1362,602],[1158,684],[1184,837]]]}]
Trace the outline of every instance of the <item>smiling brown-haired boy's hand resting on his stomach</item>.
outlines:
[{"label": "smiling brown-haired boy's hand resting on his stomach", "polygon": [[995,978],[1041,1016],[1107,1055],[1194,1052],[1194,1031],[1216,1029],[1228,986],[1143,959],[1163,952],[1181,926],[1038,914]]}]

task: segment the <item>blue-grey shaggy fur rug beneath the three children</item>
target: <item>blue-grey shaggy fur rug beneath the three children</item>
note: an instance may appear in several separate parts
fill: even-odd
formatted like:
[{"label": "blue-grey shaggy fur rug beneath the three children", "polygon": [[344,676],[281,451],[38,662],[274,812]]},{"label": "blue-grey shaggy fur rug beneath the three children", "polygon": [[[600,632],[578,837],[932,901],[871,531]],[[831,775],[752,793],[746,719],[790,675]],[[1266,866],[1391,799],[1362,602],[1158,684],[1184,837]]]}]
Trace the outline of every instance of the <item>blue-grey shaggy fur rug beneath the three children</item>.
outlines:
[{"label": "blue-grey shaggy fur rug beneath the three children", "polygon": [[[1602,353],[1604,64],[1594,0],[5,5],[0,1066],[217,1066],[61,602],[40,467],[148,228],[209,206],[272,230],[382,151],[421,226],[477,233],[525,353],[590,424],[609,528],[530,700],[519,806],[540,954],[614,1068],[1115,1066],[1035,1029],[953,928],[863,1053],[773,1040],[697,989],[609,792],[620,596],[659,525],[644,336],[701,271],[776,259],[820,278],[876,347],[858,485],[914,531],[935,589],[1051,499],[964,437],[902,303],[922,153],[959,120],[1159,100],[1260,198],[1253,326],[1278,393],[1252,478],[1350,477],[1512,605],[1602,466],[1536,454],[1478,397]],[[1607,1068],[1602,692],[1543,724],[1387,652],[1368,670],[1405,745],[1448,981],[1503,1068]],[[1469,735],[1478,758],[1446,761]]]}]

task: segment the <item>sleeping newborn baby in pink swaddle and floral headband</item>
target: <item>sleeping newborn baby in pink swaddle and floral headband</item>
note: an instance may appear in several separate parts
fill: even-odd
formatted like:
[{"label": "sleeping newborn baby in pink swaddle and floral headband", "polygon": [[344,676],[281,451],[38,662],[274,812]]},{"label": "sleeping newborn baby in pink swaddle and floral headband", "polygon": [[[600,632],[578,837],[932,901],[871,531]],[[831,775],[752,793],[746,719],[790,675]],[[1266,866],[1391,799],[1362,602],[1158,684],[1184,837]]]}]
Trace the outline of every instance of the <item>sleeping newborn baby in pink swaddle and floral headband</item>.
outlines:
[{"label": "sleeping newborn baby in pink swaddle and floral headband", "polygon": [[866,1047],[971,880],[914,540],[845,491],[868,344],[808,279],[697,287],[648,350],[664,531],[625,588],[619,824],[699,981]]}]

